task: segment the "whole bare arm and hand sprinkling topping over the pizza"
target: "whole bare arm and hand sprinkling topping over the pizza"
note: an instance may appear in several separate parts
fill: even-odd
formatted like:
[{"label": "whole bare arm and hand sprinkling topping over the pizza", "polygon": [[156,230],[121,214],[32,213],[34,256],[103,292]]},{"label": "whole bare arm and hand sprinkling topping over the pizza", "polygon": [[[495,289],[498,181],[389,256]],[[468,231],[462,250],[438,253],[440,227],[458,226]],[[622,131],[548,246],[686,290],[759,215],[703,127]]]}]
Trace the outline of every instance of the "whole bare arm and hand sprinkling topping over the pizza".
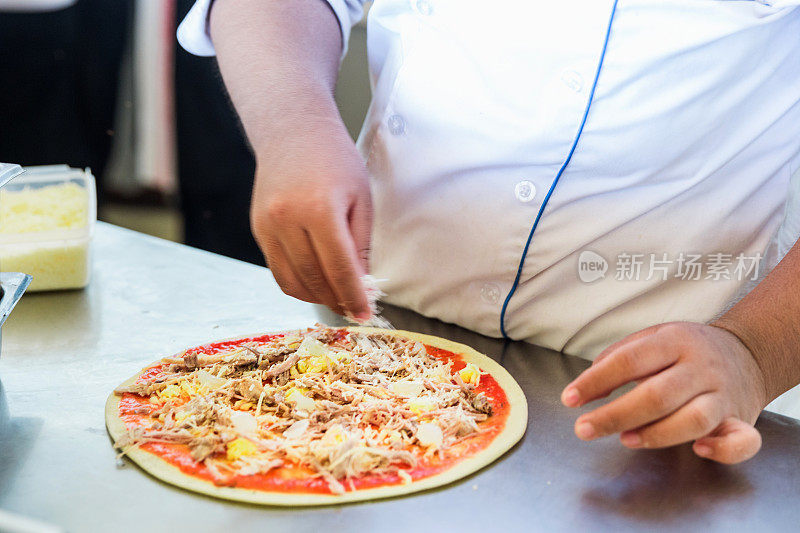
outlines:
[{"label": "whole bare arm and hand sprinkling topping over the pizza", "polygon": [[372,211],[333,97],[336,15],[313,0],[217,0],[209,29],[256,156],[250,221],[275,279],[287,294],[368,318],[359,278]]}]

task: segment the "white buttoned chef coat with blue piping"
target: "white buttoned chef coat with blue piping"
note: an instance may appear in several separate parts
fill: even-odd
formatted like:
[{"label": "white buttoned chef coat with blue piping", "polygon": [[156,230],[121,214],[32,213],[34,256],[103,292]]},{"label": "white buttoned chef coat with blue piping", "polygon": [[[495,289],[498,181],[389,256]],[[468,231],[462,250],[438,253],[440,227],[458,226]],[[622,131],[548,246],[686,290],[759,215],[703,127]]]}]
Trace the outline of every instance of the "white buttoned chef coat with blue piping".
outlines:
[{"label": "white buttoned chef coat with blue piping", "polygon": [[[327,1],[346,43],[363,2]],[[178,33],[206,55],[208,4]],[[712,319],[746,279],[682,279],[677,258],[757,257],[780,223],[800,166],[798,4],[377,0],[359,146],[386,300],[589,358]],[[591,282],[587,251],[608,268]],[[627,279],[625,254],[672,263]]]}]

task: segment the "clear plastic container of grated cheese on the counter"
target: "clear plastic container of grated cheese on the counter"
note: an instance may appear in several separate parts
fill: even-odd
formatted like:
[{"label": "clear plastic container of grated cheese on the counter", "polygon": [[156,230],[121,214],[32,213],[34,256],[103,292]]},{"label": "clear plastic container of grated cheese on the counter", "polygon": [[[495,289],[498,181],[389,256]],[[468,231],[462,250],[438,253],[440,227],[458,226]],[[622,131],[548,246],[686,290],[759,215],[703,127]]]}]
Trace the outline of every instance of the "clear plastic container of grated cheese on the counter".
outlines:
[{"label": "clear plastic container of grated cheese on the counter", "polygon": [[33,276],[29,291],[85,287],[97,219],[94,176],[66,165],[25,170],[0,190],[0,270]]}]

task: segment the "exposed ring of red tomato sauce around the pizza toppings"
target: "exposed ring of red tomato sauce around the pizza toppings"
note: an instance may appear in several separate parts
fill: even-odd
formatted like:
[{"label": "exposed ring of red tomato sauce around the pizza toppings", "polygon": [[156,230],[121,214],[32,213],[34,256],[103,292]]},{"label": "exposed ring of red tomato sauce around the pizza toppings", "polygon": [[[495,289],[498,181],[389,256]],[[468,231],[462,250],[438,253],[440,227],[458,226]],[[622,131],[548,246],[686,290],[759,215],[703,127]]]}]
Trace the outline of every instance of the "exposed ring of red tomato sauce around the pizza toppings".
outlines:
[{"label": "exposed ring of red tomato sauce around the pizza toppings", "polygon": [[[197,353],[212,355],[222,350],[235,348],[245,342],[269,342],[271,339],[282,335],[262,335],[250,337],[236,341],[223,341],[213,344],[205,344],[196,348],[191,348],[186,353]],[[425,345],[428,353],[438,359],[452,361],[452,373],[458,372],[466,363],[459,354]],[[162,370],[162,365],[156,365],[147,369],[140,380],[151,378]],[[485,422],[480,422],[481,432],[477,435],[465,439],[451,449],[449,449],[442,459],[433,454],[430,457],[423,457],[419,448],[417,455],[417,465],[406,469],[411,479],[417,481],[440,472],[443,472],[463,459],[475,455],[477,452],[486,448],[494,438],[503,430],[508,418],[510,407],[505,392],[492,376],[483,375],[480,378],[480,385],[476,391],[485,393],[492,405],[492,416]],[[125,393],[122,395],[119,404],[120,418],[125,422],[126,427],[131,429],[136,426],[149,425],[152,418],[150,412],[159,406],[150,403],[149,398],[138,394]],[[331,494],[328,484],[320,477],[314,476],[314,472],[300,465],[287,466],[273,469],[263,474],[249,476],[231,476],[224,482],[215,480],[208,468],[195,461],[185,444],[151,442],[141,446],[154,455],[159,456],[168,463],[178,467],[182,472],[196,476],[198,478],[216,483],[218,485],[239,487],[244,489],[254,489],[269,492],[292,492],[292,493],[314,493]],[[402,479],[397,474],[367,474],[360,478],[346,479],[342,481],[348,491],[369,489],[386,485],[399,485]]]}]

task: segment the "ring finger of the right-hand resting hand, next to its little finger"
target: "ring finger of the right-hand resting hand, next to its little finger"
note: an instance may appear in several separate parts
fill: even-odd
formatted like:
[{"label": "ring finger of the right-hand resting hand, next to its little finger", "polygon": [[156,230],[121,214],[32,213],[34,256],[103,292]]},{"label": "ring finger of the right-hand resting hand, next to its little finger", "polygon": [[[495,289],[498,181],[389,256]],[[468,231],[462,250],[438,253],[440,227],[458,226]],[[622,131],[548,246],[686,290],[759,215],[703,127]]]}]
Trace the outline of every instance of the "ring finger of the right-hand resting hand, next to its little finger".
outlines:
[{"label": "ring finger of the right-hand resting hand, next to its little finger", "polygon": [[626,431],[620,441],[628,448],[665,448],[699,439],[716,428],[724,413],[714,394],[701,394],[653,424]]}]

